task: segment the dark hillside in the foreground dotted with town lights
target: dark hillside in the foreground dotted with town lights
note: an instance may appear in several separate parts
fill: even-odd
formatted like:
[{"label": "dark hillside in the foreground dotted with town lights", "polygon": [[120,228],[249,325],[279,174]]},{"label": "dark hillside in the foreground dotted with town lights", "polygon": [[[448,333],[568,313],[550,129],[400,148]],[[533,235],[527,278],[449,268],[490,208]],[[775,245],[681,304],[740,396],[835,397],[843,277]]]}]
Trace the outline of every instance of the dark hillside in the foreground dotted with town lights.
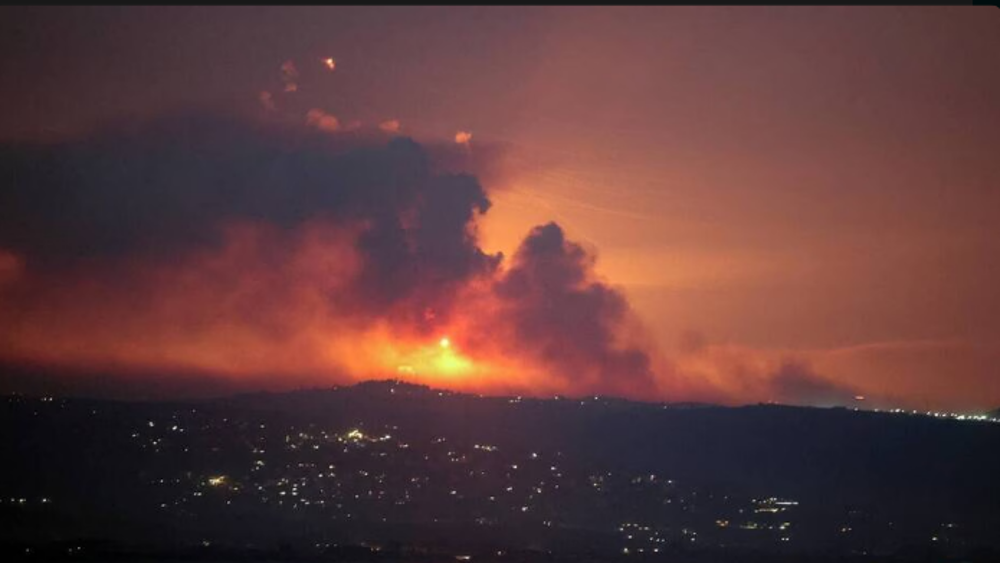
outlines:
[{"label": "dark hillside in the foreground dotted with town lights", "polygon": [[994,421],[373,382],[0,433],[4,560],[1000,560]]}]

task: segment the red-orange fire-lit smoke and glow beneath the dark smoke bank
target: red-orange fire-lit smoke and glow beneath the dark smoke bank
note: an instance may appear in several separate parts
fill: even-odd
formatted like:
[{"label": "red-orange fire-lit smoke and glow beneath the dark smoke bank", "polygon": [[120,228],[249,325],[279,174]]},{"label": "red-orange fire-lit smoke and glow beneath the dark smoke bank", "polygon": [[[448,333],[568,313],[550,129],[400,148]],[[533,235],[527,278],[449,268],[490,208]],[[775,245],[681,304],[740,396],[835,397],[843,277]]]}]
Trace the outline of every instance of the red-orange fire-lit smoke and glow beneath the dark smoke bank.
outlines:
[{"label": "red-orange fire-lit smoke and glow beneath the dark smoke bank", "polygon": [[[276,389],[392,377],[476,392],[568,390],[513,354],[503,330],[487,327],[495,304],[476,283],[444,320],[352,312],[338,295],[360,266],[358,231],[314,223],[281,234],[237,224],[218,251],[20,285],[8,256],[0,314],[14,322],[0,328],[0,354],[52,366],[267,378]],[[275,245],[280,237],[293,244]]]}]

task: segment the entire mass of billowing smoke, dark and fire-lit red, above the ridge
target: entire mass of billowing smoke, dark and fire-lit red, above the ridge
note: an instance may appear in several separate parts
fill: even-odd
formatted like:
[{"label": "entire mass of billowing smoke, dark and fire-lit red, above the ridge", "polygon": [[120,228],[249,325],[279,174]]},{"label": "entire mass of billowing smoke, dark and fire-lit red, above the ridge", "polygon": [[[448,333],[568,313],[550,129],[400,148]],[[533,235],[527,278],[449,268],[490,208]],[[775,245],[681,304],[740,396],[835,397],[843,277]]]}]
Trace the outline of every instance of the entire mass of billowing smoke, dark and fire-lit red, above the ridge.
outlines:
[{"label": "entire mass of billowing smoke, dark and fire-lit red, above the ridge", "polygon": [[200,113],[0,147],[0,362],[226,388],[843,394],[794,366],[734,387],[703,345],[684,369],[658,358],[555,223],[484,252],[498,147],[320,125]]}]

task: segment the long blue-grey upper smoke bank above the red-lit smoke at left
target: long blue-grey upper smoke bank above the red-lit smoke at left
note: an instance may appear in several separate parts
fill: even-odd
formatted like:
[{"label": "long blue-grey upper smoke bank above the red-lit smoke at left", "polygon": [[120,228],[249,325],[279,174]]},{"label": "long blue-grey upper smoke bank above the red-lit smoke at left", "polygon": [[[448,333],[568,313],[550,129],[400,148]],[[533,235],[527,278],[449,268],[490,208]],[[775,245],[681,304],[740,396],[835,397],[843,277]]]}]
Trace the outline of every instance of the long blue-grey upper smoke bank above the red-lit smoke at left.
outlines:
[{"label": "long blue-grey upper smoke bank above the red-lit smoke at left", "polygon": [[346,140],[209,114],[4,147],[0,248],[25,257],[29,270],[58,271],[219,245],[220,226],[233,220],[362,224],[352,301],[388,306],[489,274],[499,261],[469,231],[490,207],[482,186],[431,166],[406,138]]}]

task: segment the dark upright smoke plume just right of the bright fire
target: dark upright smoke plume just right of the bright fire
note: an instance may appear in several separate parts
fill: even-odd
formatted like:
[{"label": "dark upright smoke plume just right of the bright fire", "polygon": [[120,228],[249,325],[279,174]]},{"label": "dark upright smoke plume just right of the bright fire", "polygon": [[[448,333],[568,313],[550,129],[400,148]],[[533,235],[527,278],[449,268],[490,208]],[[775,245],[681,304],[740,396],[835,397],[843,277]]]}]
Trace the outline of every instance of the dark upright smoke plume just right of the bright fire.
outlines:
[{"label": "dark upright smoke plume just right of the bright fire", "polygon": [[558,366],[578,388],[651,392],[649,355],[616,343],[628,320],[628,303],[620,292],[592,279],[593,262],[555,223],[536,227],[496,293],[518,341]]}]

